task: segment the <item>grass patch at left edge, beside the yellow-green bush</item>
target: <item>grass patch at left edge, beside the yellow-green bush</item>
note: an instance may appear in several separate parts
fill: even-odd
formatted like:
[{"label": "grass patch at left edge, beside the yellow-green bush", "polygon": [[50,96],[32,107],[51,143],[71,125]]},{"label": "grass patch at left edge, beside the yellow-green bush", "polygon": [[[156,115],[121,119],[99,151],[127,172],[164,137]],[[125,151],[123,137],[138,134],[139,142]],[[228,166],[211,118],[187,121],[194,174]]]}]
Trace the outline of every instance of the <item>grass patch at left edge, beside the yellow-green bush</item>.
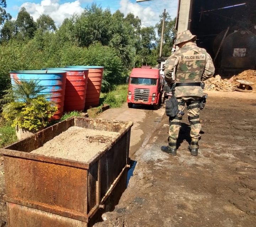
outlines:
[{"label": "grass patch at left edge, beside the yellow-green bush", "polygon": [[4,120],[0,120],[0,148],[17,141],[15,128]]}]

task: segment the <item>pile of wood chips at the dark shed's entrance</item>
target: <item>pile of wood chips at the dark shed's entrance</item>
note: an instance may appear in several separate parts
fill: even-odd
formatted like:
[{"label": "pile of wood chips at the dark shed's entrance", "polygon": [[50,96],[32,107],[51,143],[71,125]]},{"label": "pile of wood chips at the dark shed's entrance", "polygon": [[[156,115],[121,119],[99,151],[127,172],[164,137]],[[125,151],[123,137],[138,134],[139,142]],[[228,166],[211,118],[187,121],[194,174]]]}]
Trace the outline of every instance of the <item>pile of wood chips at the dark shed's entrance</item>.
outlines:
[{"label": "pile of wood chips at the dark shed's entrance", "polygon": [[239,83],[236,82],[237,79],[247,80],[254,85],[252,85],[252,90],[256,90],[256,71],[255,70],[245,70],[238,75],[232,76],[230,79],[222,79],[220,75],[211,77],[205,80],[205,89],[207,91],[235,91]]}]

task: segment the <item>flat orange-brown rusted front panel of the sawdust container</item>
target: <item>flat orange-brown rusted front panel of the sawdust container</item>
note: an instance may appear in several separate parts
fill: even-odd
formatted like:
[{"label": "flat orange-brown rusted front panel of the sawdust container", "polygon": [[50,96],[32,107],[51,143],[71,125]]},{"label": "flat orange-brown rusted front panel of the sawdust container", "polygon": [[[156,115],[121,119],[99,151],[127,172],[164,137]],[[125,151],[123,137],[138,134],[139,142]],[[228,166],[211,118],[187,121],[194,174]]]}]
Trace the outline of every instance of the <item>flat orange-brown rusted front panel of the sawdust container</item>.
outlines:
[{"label": "flat orange-brown rusted front panel of the sawdust container", "polygon": [[87,170],[4,157],[6,196],[87,214]]}]

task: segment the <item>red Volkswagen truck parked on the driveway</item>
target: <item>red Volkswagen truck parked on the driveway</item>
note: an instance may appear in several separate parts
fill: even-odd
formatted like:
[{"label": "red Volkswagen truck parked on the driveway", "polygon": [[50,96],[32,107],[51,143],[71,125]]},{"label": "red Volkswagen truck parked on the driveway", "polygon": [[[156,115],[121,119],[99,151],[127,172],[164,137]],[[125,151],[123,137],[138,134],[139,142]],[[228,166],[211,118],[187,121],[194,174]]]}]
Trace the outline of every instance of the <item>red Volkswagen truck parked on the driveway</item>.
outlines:
[{"label": "red Volkswagen truck parked on the driveway", "polygon": [[151,105],[158,109],[162,100],[163,79],[159,69],[150,66],[134,68],[129,78],[127,103],[132,108],[133,104]]}]

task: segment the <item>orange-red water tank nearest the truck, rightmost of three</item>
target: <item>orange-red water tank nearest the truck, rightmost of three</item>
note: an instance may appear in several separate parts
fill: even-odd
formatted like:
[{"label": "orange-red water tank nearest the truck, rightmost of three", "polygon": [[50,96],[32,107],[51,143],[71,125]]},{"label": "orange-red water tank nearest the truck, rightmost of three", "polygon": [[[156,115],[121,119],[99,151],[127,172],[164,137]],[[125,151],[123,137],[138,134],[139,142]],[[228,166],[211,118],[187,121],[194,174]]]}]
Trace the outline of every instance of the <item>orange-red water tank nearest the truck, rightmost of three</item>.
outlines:
[{"label": "orange-red water tank nearest the truck, rightmost of three", "polygon": [[102,66],[65,66],[65,68],[86,68],[89,69],[88,84],[85,98],[85,109],[98,106],[100,103],[100,91],[104,67]]}]

